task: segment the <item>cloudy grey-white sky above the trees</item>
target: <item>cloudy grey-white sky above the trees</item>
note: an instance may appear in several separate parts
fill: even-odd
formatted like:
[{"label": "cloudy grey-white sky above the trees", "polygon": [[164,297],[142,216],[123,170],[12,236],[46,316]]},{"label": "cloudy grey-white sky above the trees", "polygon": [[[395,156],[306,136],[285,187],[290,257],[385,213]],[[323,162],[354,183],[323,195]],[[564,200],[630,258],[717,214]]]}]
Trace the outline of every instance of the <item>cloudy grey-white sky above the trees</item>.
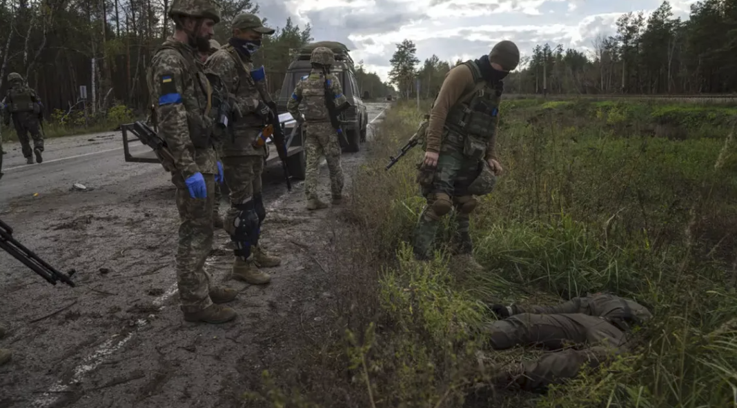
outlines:
[{"label": "cloudy grey-white sky above the trees", "polygon": [[[523,55],[537,44],[591,50],[598,33],[612,35],[617,18],[651,12],[661,0],[256,0],[261,16],[282,27],[287,16],[312,24],[315,41],[340,41],[353,59],[387,80],[389,60],[405,38],[422,62],[478,58],[495,43],[511,40]],[[673,0],[674,13],[688,17],[695,0]]]}]

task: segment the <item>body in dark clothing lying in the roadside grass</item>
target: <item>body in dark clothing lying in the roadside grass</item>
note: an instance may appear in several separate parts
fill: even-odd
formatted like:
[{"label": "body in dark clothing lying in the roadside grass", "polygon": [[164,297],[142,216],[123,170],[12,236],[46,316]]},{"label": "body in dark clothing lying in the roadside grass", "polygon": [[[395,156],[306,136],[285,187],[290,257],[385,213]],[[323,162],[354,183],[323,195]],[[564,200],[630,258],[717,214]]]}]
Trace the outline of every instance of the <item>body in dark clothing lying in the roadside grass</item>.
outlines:
[{"label": "body in dark clothing lying in the roadside grass", "polygon": [[652,317],[635,300],[601,293],[573,298],[557,306],[497,304],[492,311],[504,317],[487,328],[495,350],[515,345],[542,345],[552,350],[564,348],[566,343],[588,346],[548,353],[537,361],[499,371],[497,384],[524,390],[574,377],[584,364],[600,365],[625,350],[626,333],[631,326],[639,326]]}]

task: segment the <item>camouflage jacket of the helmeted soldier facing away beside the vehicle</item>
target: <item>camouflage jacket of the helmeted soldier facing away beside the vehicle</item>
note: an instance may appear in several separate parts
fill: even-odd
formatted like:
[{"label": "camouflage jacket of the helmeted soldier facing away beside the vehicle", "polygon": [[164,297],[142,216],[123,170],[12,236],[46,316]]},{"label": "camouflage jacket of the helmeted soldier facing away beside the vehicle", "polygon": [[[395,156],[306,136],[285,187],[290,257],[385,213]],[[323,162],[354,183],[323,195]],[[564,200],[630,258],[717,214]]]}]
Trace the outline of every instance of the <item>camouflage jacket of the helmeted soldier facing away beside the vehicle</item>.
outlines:
[{"label": "camouflage jacket of the helmeted soldier facing away beside the vehicle", "polygon": [[301,109],[304,120],[307,122],[330,122],[327,106],[325,105],[325,80],[327,80],[330,91],[335,98],[335,106],[346,102],[346,96],[343,95],[343,88],[340,87],[338,77],[327,74],[327,78],[325,78],[320,70],[312,68],[310,75],[302,77],[297,82],[292,97],[287,102],[287,111],[293,117],[297,117],[300,113],[299,105],[304,102],[304,107]]}]

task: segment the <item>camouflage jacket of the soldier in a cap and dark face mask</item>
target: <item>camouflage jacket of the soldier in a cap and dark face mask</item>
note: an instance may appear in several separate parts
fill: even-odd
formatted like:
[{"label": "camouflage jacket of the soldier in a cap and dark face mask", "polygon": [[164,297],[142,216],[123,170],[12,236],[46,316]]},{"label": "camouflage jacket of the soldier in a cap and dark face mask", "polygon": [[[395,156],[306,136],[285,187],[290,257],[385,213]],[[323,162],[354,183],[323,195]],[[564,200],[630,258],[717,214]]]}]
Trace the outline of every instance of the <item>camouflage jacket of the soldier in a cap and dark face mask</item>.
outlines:
[{"label": "camouflage jacket of the soldier in a cap and dark face mask", "polygon": [[[265,121],[256,113],[262,94],[259,93],[256,81],[251,77],[254,64],[251,58],[241,56],[231,45],[223,46],[212,54],[207,68],[220,77],[229,94],[234,96],[234,116],[228,127],[228,135],[223,137],[222,155],[248,156],[263,155],[262,149],[253,144]],[[240,117],[238,117],[240,116]]]}]

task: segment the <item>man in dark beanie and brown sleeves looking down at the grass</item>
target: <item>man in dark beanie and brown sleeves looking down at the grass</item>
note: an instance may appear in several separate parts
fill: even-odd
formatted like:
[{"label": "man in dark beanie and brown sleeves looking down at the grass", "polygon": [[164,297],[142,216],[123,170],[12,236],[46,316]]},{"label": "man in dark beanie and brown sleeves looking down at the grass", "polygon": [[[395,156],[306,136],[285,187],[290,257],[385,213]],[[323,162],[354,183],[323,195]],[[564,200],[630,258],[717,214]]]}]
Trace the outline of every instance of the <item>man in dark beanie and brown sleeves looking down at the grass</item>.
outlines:
[{"label": "man in dark beanie and brown sleeves looking down at the grass", "polygon": [[502,172],[495,154],[502,79],[519,61],[517,46],[501,41],[489,55],[455,66],[446,75],[430,110],[417,177],[427,200],[414,233],[417,258],[432,255],[440,219],[455,209],[459,264],[483,270],[472,257],[469,217],[478,203],[475,196],[489,194]]}]

